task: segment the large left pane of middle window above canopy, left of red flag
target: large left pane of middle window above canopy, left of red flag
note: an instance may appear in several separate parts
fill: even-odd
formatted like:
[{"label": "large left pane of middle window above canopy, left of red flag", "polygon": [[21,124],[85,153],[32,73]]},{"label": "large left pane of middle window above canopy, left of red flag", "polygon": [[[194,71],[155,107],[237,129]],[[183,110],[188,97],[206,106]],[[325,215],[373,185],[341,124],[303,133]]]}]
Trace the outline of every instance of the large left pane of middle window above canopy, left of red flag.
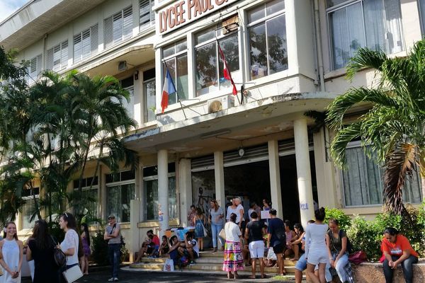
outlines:
[{"label": "large left pane of middle window above canopy, left of red flag", "polygon": [[217,47],[212,42],[196,50],[196,91],[200,96],[217,90]]}]

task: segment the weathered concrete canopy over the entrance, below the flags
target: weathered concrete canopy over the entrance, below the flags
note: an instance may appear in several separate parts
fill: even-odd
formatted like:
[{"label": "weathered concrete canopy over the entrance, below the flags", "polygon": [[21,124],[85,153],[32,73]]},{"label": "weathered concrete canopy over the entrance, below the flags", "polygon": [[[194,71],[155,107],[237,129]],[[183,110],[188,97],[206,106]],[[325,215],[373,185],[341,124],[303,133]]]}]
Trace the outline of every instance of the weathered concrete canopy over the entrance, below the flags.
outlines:
[{"label": "weathered concrete canopy over the entrance, below the flags", "polygon": [[[293,120],[307,110],[323,111],[333,93],[293,93],[256,100],[125,137],[125,144],[140,154],[159,149],[171,152],[208,154],[215,150],[249,146],[250,141],[267,141],[271,135],[293,136]],[[285,133],[286,132],[286,133]]]}]

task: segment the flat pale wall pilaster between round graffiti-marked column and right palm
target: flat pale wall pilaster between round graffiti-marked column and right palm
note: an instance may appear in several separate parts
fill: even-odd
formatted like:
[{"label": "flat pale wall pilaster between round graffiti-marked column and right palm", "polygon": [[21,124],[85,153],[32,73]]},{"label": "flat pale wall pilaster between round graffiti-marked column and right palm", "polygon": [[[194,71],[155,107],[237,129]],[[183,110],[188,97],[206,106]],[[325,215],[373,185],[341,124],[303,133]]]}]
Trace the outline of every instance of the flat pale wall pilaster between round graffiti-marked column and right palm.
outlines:
[{"label": "flat pale wall pilaster between round graffiti-marked column and right palm", "polygon": [[327,141],[324,134],[324,130],[321,129],[313,135],[319,207],[337,207],[334,166],[329,156],[326,156]]}]

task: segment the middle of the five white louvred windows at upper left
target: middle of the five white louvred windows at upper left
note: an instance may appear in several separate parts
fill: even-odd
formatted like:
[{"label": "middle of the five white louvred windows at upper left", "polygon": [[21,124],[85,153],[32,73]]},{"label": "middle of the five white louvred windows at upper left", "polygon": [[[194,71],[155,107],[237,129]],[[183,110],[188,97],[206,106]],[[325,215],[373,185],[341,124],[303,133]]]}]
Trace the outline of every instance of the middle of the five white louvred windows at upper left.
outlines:
[{"label": "middle of the five white louvred windows at upper left", "polygon": [[98,52],[98,24],[74,35],[74,64]]}]

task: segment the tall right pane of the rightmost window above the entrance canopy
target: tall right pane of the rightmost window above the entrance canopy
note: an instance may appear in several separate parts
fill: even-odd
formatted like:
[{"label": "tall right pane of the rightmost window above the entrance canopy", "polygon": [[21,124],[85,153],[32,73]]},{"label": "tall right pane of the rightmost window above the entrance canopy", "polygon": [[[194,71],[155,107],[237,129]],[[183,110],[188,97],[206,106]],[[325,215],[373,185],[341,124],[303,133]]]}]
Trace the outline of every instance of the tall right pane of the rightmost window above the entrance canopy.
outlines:
[{"label": "tall right pane of the rightmost window above the entrance canopy", "polygon": [[274,74],[288,69],[288,52],[286,49],[286,24],[285,15],[273,18],[267,25],[268,64]]}]

